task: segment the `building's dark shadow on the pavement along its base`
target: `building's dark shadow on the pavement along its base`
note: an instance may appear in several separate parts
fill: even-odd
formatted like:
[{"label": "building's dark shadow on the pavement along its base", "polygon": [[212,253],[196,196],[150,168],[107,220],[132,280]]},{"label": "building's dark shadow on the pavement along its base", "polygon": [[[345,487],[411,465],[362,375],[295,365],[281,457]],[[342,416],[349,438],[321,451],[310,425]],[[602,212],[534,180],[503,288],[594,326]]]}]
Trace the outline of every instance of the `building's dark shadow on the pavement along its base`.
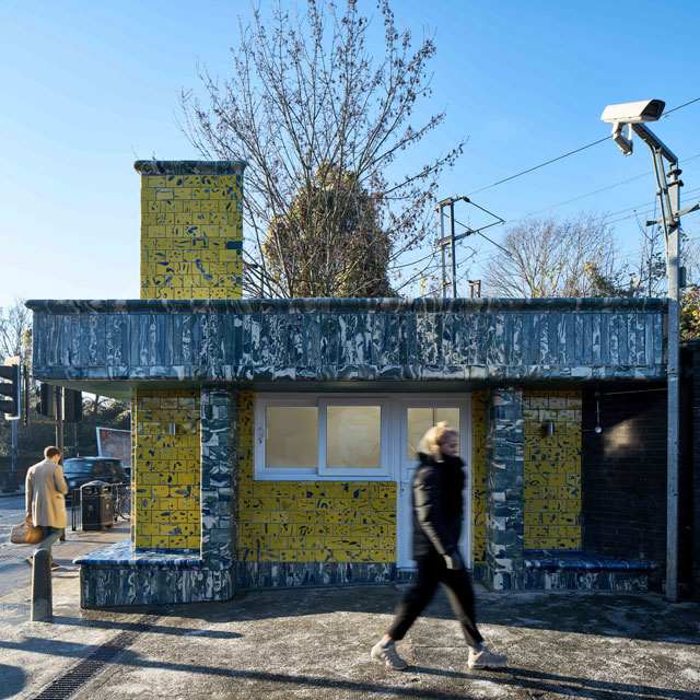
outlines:
[{"label": "building's dark shadow on the pavement along its base", "polygon": [[[404,591],[393,585],[247,591],[223,603],[164,606],[162,615],[198,620],[198,625],[201,620],[235,622],[339,611],[390,617]],[[138,606],[110,610],[143,609]],[[442,591],[422,617],[455,619]],[[673,605],[660,596],[643,593],[523,592],[477,596],[479,625],[700,645],[697,620],[700,620],[700,605]]]}]

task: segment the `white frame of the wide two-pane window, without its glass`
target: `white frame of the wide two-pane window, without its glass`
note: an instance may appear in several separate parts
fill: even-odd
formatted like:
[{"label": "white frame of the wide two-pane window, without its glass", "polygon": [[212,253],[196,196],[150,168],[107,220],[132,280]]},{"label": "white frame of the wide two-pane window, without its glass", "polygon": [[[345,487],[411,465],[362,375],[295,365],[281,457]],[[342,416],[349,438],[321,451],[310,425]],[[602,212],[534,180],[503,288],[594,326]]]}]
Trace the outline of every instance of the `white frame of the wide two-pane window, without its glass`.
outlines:
[{"label": "white frame of the wide two-pane window, without its glass", "polygon": [[[268,406],[299,406],[318,408],[318,468],[267,467],[265,465],[265,419]],[[326,467],[326,412],[328,406],[380,406],[382,409],[380,468],[337,469]],[[341,481],[348,478],[362,481],[386,481],[390,476],[392,398],[387,394],[273,394],[256,393],[254,425],[254,471],[258,481]]]}]

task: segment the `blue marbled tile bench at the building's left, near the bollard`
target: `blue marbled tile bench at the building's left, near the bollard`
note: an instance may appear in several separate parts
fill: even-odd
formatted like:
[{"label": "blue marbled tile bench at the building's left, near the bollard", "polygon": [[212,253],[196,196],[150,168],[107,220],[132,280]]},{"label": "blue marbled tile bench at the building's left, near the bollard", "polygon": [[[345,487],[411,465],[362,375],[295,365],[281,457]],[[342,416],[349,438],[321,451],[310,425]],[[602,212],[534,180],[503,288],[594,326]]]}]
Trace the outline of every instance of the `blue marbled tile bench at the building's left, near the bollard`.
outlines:
[{"label": "blue marbled tile bench at the building's left, near the bollard", "polygon": [[228,600],[235,593],[232,562],[207,561],[199,552],[136,551],[130,539],[73,563],[83,608]]}]

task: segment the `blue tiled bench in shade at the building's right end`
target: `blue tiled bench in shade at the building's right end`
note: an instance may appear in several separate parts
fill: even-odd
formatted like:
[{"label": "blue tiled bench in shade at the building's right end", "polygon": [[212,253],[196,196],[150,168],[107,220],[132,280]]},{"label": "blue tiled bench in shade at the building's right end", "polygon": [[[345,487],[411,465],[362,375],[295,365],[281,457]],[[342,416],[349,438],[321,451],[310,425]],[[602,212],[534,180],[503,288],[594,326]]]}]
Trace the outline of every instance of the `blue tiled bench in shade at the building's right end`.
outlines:
[{"label": "blue tiled bench in shade at the building's right end", "polygon": [[526,550],[523,569],[525,588],[646,591],[658,565],[587,551]]}]

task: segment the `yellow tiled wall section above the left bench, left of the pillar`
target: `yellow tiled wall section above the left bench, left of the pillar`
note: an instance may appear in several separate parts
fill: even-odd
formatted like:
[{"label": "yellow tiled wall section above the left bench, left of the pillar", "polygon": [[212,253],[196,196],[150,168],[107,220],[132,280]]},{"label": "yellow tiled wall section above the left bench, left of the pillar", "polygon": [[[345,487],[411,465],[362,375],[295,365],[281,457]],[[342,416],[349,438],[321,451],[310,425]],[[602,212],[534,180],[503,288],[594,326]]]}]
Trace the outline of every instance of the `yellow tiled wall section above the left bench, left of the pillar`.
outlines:
[{"label": "yellow tiled wall section above the left bench, left of the pillar", "polygon": [[136,546],[199,549],[199,393],[139,392],[135,407]]}]

